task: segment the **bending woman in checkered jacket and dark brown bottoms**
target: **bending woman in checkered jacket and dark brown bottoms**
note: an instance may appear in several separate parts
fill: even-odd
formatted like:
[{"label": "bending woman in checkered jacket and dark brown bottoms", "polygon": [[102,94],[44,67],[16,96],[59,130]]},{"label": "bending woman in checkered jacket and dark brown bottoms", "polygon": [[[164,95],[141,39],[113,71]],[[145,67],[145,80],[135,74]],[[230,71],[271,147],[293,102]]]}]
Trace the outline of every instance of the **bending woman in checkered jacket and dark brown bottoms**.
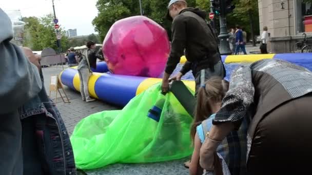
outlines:
[{"label": "bending woman in checkered jacket and dark brown bottoms", "polygon": [[[209,87],[208,87],[209,88]],[[200,150],[200,165],[213,170],[213,152],[247,112],[248,174],[306,174],[312,156],[312,73],[264,59],[239,67]]]}]

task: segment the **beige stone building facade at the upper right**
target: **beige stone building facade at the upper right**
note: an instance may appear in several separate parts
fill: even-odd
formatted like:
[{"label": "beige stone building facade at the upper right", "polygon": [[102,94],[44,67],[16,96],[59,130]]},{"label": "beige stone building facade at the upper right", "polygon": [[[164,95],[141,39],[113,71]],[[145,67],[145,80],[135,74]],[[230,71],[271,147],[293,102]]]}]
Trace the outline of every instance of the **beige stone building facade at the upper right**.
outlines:
[{"label": "beige stone building facade at the upper right", "polygon": [[268,49],[271,52],[293,52],[296,41],[303,39],[303,33],[312,37],[311,3],[302,3],[300,0],[258,0],[258,5],[260,31],[267,26],[270,37]]}]

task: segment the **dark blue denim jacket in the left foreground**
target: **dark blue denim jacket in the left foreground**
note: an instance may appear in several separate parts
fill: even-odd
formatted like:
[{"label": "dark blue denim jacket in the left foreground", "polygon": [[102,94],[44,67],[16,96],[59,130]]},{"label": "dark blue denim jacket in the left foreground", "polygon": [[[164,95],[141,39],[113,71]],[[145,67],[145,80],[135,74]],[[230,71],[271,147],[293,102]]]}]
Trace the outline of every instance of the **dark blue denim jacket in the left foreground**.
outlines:
[{"label": "dark blue denim jacket in the left foreground", "polygon": [[23,129],[24,174],[76,174],[65,124],[42,87],[36,97],[18,110]]}]

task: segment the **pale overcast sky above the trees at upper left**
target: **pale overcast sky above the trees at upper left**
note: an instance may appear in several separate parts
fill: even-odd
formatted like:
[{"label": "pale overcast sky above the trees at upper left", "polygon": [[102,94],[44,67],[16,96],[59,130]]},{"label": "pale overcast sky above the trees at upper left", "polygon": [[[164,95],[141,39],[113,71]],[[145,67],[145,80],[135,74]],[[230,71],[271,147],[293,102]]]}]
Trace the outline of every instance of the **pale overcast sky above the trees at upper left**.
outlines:
[{"label": "pale overcast sky above the trees at upper left", "polygon": [[[55,0],[55,14],[62,28],[77,29],[77,35],[94,32],[92,20],[97,16],[97,0]],[[0,8],[12,14],[20,10],[23,17],[41,17],[53,13],[52,0],[1,0]]]}]

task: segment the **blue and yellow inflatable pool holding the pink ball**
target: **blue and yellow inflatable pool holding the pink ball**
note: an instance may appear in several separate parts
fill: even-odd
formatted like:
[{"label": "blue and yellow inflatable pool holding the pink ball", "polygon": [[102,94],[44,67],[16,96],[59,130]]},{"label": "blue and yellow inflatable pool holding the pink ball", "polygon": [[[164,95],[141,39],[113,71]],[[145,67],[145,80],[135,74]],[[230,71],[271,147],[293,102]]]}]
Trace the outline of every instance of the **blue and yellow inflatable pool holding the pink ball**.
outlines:
[{"label": "blue and yellow inflatable pool holding the pink ball", "polygon": [[[230,73],[237,65],[261,59],[283,59],[312,71],[312,53],[228,55],[222,56],[227,71],[226,79],[229,79]],[[185,57],[182,57],[180,63],[184,63],[185,60]],[[179,68],[175,70],[175,73],[177,71],[179,71]],[[108,72],[105,62],[97,63],[97,69],[93,70],[93,75],[89,80],[89,93],[93,98],[119,106],[125,106],[134,96],[142,93],[151,85],[161,82],[161,78],[114,75],[105,72]],[[80,80],[76,68],[64,70],[60,77],[64,85],[80,91]],[[194,90],[195,85],[192,75],[187,74],[184,78],[186,79],[184,83]]]}]

